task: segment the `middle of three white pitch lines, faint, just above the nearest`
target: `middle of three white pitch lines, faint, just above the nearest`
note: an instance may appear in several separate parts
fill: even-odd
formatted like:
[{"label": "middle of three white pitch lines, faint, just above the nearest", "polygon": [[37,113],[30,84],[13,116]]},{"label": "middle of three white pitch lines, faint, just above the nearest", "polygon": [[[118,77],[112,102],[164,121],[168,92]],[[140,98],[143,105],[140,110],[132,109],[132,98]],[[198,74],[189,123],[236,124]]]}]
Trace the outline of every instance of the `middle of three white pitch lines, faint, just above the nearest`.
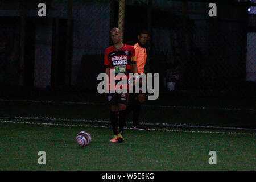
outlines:
[{"label": "middle of three white pitch lines, faint, just above the nearest", "polygon": [[[1,118],[1,117],[0,117]],[[6,118],[6,117],[5,117]],[[52,118],[52,117],[14,117],[15,119],[33,119],[43,121],[66,121],[66,122],[95,122],[95,123],[110,123],[105,120],[90,120],[90,119],[63,119],[63,118]],[[132,124],[132,122],[127,122]],[[221,126],[201,126],[201,125],[187,125],[187,124],[168,124],[168,123],[146,123],[141,122],[144,126],[166,126],[166,127],[191,127],[191,128],[202,128],[202,129],[224,129],[224,130],[254,130],[249,128],[240,127],[221,127]]]}]

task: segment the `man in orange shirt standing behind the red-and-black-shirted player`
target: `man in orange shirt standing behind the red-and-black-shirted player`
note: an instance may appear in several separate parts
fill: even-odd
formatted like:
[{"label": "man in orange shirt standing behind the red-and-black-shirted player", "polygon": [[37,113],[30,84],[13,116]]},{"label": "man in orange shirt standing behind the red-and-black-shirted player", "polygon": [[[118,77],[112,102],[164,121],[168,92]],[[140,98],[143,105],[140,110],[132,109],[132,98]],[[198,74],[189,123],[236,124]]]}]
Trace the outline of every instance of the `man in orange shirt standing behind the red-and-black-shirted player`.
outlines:
[{"label": "man in orange shirt standing behind the red-and-black-shirted player", "polygon": [[[145,65],[147,61],[147,49],[146,44],[149,40],[149,34],[146,30],[139,31],[138,34],[138,43],[134,45],[135,49],[135,57],[136,57],[136,64],[138,69],[138,74],[145,74]],[[140,85],[140,92],[141,92],[141,85]],[[133,111],[133,125],[131,129],[135,130],[145,130],[141,125],[139,125],[139,113],[141,111],[141,104],[146,100],[146,94],[134,94],[134,99],[131,101],[131,104],[128,110]]]}]

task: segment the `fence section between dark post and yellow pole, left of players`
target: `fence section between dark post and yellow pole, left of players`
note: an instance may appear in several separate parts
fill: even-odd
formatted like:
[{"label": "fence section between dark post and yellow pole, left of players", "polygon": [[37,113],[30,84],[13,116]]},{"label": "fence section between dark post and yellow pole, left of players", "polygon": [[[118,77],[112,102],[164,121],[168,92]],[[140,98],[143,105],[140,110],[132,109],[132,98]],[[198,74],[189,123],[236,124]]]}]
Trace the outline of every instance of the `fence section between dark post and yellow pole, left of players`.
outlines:
[{"label": "fence section between dark post and yellow pole, left of players", "polygon": [[95,91],[110,42],[110,2],[74,1],[73,22],[71,85]]}]

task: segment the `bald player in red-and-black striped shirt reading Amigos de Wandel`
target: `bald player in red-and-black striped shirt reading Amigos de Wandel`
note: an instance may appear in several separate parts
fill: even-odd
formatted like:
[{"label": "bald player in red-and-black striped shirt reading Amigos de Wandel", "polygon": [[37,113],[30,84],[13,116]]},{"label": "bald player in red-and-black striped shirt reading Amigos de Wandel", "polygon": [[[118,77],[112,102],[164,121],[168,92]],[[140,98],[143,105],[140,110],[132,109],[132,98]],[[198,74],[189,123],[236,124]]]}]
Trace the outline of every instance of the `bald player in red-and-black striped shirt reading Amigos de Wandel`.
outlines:
[{"label": "bald player in red-and-black striped shirt reading Amigos de Wandel", "polygon": [[[135,59],[135,50],[133,46],[122,43],[122,32],[119,28],[112,28],[110,36],[113,46],[106,48],[104,65],[106,67],[106,74],[109,76],[110,71],[114,70],[114,74],[124,73],[129,79],[129,73],[137,73],[137,65]],[[117,84],[119,81],[115,81]],[[128,88],[127,93],[108,93],[107,99],[110,105],[110,121],[113,128],[114,137],[109,142],[123,142],[123,127],[126,122],[126,105],[129,97]],[[121,86],[122,87],[122,86]],[[110,88],[111,89],[111,88]],[[109,89],[109,90],[110,90]],[[115,90],[116,91],[116,90]],[[118,127],[119,123],[119,127]]]}]

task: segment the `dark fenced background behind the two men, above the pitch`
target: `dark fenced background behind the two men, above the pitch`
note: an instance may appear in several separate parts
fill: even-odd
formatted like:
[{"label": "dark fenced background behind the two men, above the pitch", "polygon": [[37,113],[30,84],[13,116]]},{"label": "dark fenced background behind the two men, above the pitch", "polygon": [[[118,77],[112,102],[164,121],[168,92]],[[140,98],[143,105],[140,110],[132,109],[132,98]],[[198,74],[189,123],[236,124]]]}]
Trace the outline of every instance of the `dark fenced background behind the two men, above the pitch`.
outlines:
[{"label": "dark fenced background behind the two men, above the pitch", "polygon": [[[97,94],[118,1],[40,2],[43,18],[39,1],[1,1],[1,95]],[[216,3],[209,17],[207,1],[126,1],[124,42],[135,44],[140,28],[150,32],[147,61],[160,94],[255,99],[255,4]]]}]

